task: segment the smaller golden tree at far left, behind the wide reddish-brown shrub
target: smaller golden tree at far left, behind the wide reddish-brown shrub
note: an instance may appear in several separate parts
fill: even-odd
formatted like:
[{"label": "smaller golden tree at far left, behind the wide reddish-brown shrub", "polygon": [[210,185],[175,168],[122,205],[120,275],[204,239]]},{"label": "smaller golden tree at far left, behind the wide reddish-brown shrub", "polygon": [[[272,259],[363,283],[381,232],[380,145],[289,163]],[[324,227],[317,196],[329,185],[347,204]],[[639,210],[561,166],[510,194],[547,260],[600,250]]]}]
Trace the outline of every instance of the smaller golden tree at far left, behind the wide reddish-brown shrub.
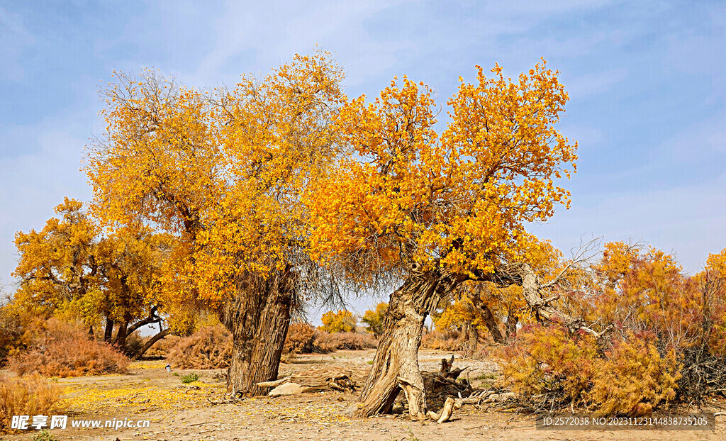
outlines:
[{"label": "smaller golden tree at far left, behind the wide reddish-brown shrub", "polygon": [[[104,340],[125,351],[127,336],[162,322],[160,314],[167,312],[158,278],[169,238],[143,227],[103,236],[73,199],[65,198],[55,211],[61,219],[49,219],[40,232],[15,236],[20,253],[15,306],[37,317],[80,317],[91,334],[94,325],[104,326]],[[151,341],[167,334],[160,331]]]}]

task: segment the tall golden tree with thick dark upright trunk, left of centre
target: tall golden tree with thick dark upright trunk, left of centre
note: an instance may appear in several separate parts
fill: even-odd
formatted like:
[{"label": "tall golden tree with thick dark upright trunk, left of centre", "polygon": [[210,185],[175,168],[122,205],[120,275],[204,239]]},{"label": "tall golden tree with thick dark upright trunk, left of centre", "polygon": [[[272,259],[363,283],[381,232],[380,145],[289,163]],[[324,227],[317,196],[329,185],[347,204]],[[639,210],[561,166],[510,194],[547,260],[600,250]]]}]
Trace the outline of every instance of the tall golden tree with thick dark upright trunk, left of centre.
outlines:
[{"label": "tall golden tree with thick dark upright trunk, left of centre", "polygon": [[337,154],[341,78],[319,52],[207,94],[148,71],[106,91],[87,168],[97,212],[178,238],[166,281],[232,331],[233,395],[277,379],[290,309],[320,286],[300,198]]}]

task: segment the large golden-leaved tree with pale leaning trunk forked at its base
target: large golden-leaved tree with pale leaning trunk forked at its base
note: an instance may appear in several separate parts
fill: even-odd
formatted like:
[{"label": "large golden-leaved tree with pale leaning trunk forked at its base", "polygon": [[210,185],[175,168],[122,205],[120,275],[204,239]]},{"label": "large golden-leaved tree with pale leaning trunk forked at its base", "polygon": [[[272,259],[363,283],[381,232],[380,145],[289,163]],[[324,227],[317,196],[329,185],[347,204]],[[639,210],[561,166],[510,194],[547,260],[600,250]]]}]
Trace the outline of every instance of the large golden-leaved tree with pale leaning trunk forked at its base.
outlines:
[{"label": "large golden-leaved tree with pale leaning trunk forked at its base", "polygon": [[555,129],[568,100],[557,73],[544,62],[515,80],[498,65],[492,73],[462,81],[441,134],[431,89],[405,77],[340,112],[351,153],[311,197],[311,252],[363,285],[382,274],[403,280],[359,416],[390,412],[403,389],[411,417],[426,417],[417,361],[426,315],[467,280],[513,283],[502,270],[526,262],[526,222],[568,204],[554,179],[574,169],[576,143]]}]

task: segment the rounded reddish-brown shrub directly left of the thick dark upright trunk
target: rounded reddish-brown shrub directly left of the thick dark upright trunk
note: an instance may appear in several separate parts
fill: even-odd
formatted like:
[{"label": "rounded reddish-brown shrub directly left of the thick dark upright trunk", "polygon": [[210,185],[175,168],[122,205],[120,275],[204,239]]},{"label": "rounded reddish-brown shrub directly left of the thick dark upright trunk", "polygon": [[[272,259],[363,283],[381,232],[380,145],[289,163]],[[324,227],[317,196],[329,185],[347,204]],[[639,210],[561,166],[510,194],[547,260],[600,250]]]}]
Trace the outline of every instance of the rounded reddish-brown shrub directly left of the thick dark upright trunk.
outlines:
[{"label": "rounded reddish-brown shrub directly left of the thick dark upright trunk", "polygon": [[219,369],[229,367],[232,334],[223,326],[205,326],[179,339],[168,360],[179,369]]}]

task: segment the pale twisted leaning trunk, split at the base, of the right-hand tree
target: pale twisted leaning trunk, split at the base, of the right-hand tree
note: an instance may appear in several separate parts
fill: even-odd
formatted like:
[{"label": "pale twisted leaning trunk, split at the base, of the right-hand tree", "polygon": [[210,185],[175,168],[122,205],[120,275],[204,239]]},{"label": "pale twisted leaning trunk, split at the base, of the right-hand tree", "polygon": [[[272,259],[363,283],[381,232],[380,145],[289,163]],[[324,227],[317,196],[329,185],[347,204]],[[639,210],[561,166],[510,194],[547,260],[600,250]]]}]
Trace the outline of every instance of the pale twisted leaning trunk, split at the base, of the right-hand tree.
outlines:
[{"label": "pale twisted leaning trunk, split at the base, of the right-hand tree", "polygon": [[350,409],[356,416],[390,413],[402,389],[411,418],[427,418],[423,377],[418,365],[423,322],[457,283],[460,280],[444,277],[439,272],[424,272],[410,276],[391,294],[372,370]]}]

